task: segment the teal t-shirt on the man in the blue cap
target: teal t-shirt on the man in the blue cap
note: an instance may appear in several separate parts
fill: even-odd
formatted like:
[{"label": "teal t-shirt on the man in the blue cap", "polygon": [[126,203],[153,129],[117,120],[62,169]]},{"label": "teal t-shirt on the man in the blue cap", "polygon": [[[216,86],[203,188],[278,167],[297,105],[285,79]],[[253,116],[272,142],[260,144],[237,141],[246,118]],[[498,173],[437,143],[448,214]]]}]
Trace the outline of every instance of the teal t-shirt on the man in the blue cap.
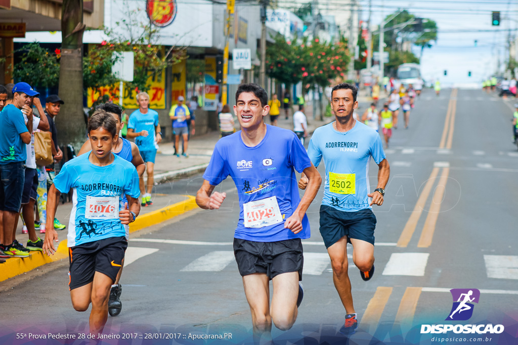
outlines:
[{"label": "teal t-shirt on the man in the blue cap", "polygon": [[7,104],[0,112],[0,128],[0,164],[24,162],[27,159],[27,151],[20,134],[28,130],[22,111],[12,104]]}]

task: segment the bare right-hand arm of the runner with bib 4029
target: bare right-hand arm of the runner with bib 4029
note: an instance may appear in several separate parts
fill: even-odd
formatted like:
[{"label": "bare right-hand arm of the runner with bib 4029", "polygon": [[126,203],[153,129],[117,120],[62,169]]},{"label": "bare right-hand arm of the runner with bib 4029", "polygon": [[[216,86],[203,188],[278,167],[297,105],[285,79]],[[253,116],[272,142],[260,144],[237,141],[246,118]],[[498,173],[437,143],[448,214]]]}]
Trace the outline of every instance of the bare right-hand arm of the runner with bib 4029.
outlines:
[{"label": "bare right-hand arm of the runner with bib 4029", "polygon": [[315,166],[313,166],[313,163],[311,163],[311,167],[304,169],[303,173],[308,179],[306,191],[304,192],[302,199],[300,199],[293,215],[284,222],[284,228],[290,229],[295,234],[302,230],[302,219],[322,184],[322,177],[316,170]]}]

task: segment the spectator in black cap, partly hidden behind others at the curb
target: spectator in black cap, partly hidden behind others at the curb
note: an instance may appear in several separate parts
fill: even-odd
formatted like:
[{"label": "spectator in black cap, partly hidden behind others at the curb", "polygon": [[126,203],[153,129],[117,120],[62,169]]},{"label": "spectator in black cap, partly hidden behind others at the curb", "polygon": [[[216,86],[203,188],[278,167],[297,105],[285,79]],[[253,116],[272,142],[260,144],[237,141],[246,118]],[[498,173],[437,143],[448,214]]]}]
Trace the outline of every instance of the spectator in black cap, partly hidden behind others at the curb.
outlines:
[{"label": "spectator in black cap, partly hidden behind others at the curb", "polygon": [[[62,101],[61,98],[57,95],[50,95],[45,100],[45,114],[47,115],[47,119],[49,120],[50,132],[52,133],[52,156],[54,156],[54,161],[60,161],[61,159],[63,159],[63,152],[61,151],[59,145],[57,145],[57,129],[54,123],[54,118],[57,116],[57,114],[60,113],[61,104],[65,104],[65,102]],[[47,188],[50,188],[55,175],[54,164],[46,168],[48,175]],[[45,232],[45,228],[41,228],[45,227],[44,224],[45,221],[42,221],[40,224],[41,233]],[[54,229],[63,230],[65,228],[66,226],[62,224],[59,220],[57,220],[57,218],[54,219]]]}]

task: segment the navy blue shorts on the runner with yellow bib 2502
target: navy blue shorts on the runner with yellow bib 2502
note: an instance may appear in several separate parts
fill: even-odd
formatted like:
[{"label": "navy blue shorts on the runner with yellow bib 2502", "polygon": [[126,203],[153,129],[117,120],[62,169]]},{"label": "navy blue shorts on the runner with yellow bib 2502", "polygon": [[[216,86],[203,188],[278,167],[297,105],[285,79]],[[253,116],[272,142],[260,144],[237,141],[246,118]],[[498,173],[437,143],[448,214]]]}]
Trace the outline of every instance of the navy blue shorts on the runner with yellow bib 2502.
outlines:
[{"label": "navy blue shorts on the runner with yellow bib 2502", "polygon": [[328,205],[320,205],[320,234],[326,248],[334,245],[343,236],[361,239],[373,245],[375,228],[376,216],[370,208],[345,212]]}]

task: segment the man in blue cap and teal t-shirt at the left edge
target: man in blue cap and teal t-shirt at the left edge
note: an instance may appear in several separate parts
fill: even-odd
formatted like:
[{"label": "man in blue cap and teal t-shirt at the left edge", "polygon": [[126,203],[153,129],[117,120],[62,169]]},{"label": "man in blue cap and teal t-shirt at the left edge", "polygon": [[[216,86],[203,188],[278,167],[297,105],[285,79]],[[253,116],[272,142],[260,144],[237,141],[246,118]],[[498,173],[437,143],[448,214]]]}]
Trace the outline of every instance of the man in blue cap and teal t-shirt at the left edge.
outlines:
[{"label": "man in blue cap and teal t-shirt at the left edge", "polygon": [[[0,210],[3,211],[4,237],[0,250],[10,257],[25,258],[28,253],[13,246],[12,230],[20,212],[25,182],[26,144],[33,130],[32,98],[39,95],[27,83],[12,88],[12,104],[0,113]],[[25,124],[23,115],[27,117]]]}]

